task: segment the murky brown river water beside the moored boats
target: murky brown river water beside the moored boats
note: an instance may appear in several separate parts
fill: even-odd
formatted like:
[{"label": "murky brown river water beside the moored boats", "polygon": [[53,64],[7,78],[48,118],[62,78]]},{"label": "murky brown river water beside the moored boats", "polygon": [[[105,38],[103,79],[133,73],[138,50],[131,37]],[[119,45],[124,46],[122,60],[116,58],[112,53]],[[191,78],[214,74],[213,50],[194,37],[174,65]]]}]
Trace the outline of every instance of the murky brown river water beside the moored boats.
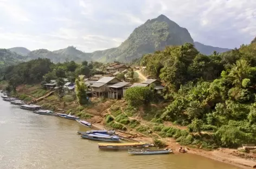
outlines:
[{"label": "murky brown river water beside the moored boats", "polygon": [[0,99],[0,168],[177,168],[238,169],[192,154],[129,155],[98,150],[81,139],[78,122],[34,114]]}]

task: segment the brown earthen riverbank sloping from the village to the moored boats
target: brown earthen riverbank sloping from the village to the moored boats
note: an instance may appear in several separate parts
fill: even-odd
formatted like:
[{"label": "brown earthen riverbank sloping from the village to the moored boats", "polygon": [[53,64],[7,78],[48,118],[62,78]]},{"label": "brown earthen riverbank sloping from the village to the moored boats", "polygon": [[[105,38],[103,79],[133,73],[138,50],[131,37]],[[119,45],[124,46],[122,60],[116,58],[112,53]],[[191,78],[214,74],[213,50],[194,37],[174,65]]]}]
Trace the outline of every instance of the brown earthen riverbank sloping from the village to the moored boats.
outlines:
[{"label": "brown earthen riverbank sloping from the village to the moored boats", "polygon": [[[40,92],[41,91],[41,92]],[[47,94],[49,91],[42,92],[38,86],[20,86],[17,88],[17,93],[19,96],[24,97],[25,95],[29,98],[39,98],[43,94]],[[146,121],[142,118],[142,114],[135,112],[132,114],[129,111],[126,111],[127,108],[126,102],[124,100],[108,100],[108,99],[91,99],[89,105],[87,106],[79,106],[76,100],[71,99],[72,94],[68,94],[65,98],[59,99],[56,95],[49,96],[48,98],[43,99],[42,101],[38,102],[37,104],[43,106],[47,109],[52,109],[55,112],[61,113],[71,113],[75,115],[81,116],[82,119],[85,119],[91,122],[95,127],[99,129],[111,129],[112,126],[106,124],[106,116],[111,115],[113,116],[114,124],[119,124],[126,127],[127,132],[131,132],[133,134],[125,134],[120,133],[124,137],[130,137],[139,141],[147,141],[153,142],[152,137],[157,137],[164,141],[169,148],[174,150],[175,153],[178,153],[178,148],[180,148],[180,143],[178,143],[175,139],[172,138],[163,138],[159,135],[158,132],[152,129],[154,124],[150,121]],[[25,98],[28,98],[25,97]],[[125,111],[124,111],[125,110]],[[142,110],[140,110],[142,111]],[[125,114],[128,116],[128,120],[136,120],[139,122],[139,125],[136,127],[132,127],[131,124],[123,124],[118,122],[117,116],[120,114]],[[147,126],[147,130],[150,129],[152,133],[147,133],[148,131],[138,132],[139,126]],[[170,124],[165,124],[165,126],[170,126]],[[172,125],[173,126],[173,125]],[[173,126],[179,127],[180,129],[184,129],[180,126]],[[185,147],[185,146],[183,146]],[[213,151],[206,151],[199,148],[189,147],[189,153],[201,155],[203,157],[207,157],[216,161],[221,161],[223,163],[232,164],[241,168],[252,168],[255,166],[256,162],[252,160],[255,157],[253,154],[246,154],[239,152],[237,150],[231,150],[228,148],[219,148]],[[244,158],[242,158],[244,157]],[[247,159],[246,159],[247,158]]]}]

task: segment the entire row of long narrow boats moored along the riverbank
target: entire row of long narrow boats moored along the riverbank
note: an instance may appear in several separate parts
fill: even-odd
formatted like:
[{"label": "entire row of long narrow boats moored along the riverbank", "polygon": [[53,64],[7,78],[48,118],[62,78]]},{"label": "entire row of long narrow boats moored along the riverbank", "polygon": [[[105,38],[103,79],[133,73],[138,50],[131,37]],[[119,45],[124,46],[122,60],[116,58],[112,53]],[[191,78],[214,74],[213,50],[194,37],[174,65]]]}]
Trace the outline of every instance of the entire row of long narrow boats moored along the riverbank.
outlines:
[{"label": "entire row of long narrow boats moored along the riverbank", "polygon": [[[77,116],[74,116],[71,114],[63,114],[63,113],[55,114],[53,111],[42,109],[41,106],[26,105],[25,102],[21,100],[17,100],[15,98],[10,98],[8,96],[2,96],[2,98],[4,101],[9,101],[13,105],[19,105],[21,109],[27,109],[27,110],[33,111],[33,113],[36,113],[36,114],[55,115],[65,119],[75,120],[79,122],[79,124],[85,127],[92,128],[92,124],[90,124],[85,120],[80,120],[80,118]],[[112,142],[112,143],[99,143],[98,148],[101,150],[126,150],[128,151],[129,154],[135,154],[135,155],[172,153],[170,149],[152,150],[149,147],[153,147],[153,144],[148,144],[146,142],[120,143],[123,137],[119,137],[119,135],[116,134],[115,131],[91,130],[87,132],[78,132],[78,134],[80,134],[81,138],[83,139]]]}]

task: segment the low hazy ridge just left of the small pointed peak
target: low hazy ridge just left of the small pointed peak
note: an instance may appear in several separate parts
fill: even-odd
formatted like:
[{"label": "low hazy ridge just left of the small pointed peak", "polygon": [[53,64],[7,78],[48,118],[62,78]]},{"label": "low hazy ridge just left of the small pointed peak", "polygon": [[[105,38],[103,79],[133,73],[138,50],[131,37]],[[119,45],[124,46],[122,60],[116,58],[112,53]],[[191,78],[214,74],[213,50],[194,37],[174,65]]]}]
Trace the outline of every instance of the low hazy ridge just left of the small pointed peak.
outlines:
[{"label": "low hazy ridge just left of the small pointed peak", "polygon": [[27,55],[27,60],[37,59],[39,57],[50,59],[54,63],[80,60],[78,56],[62,55],[62,54],[54,53],[53,51],[49,51],[47,49],[38,49],[38,50],[31,51]]}]

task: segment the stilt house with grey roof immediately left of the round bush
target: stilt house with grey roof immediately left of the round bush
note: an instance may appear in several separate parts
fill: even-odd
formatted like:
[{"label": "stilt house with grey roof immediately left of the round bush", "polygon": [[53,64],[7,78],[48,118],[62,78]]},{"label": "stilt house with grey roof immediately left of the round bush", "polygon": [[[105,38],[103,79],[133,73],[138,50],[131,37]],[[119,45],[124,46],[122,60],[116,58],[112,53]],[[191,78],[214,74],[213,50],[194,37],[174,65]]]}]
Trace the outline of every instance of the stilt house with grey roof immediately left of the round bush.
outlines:
[{"label": "stilt house with grey roof immediately left of the round bush", "polygon": [[124,97],[125,90],[131,86],[132,84],[130,82],[118,82],[108,86],[107,98],[121,99]]}]

